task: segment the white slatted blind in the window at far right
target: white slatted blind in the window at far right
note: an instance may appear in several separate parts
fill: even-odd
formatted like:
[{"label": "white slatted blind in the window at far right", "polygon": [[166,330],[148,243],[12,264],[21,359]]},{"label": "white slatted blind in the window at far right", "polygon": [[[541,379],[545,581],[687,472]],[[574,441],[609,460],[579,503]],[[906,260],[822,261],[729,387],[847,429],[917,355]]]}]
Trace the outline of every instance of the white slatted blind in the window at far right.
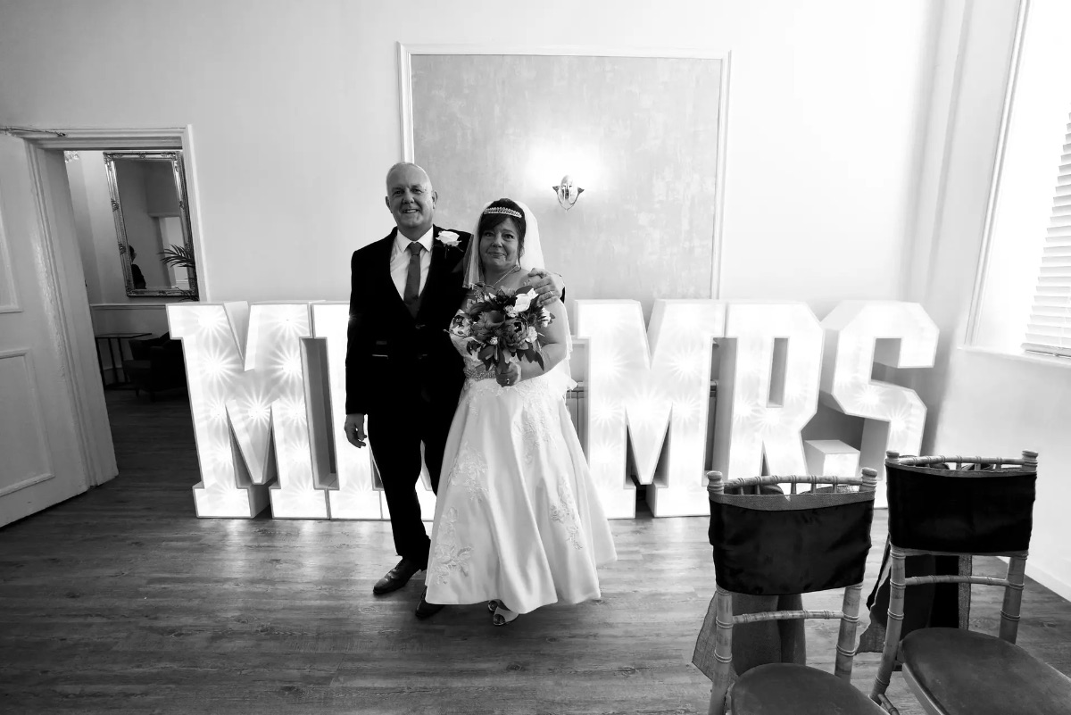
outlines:
[{"label": "white slatted blind in the window at far right", "polygon": [[1023,348],[1071,358],[1071,115]]}]

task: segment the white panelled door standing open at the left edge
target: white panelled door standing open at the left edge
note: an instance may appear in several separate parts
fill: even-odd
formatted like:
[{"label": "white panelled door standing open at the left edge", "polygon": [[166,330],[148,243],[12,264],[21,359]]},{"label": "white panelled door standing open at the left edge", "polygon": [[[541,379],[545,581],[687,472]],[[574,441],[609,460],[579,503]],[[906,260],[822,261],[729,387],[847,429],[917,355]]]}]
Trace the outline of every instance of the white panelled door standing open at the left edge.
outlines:
[{"label": "white panelled door standing open at the left edge", "polygon": [[88,488],[26,146],[0,135],[0,526]]}]

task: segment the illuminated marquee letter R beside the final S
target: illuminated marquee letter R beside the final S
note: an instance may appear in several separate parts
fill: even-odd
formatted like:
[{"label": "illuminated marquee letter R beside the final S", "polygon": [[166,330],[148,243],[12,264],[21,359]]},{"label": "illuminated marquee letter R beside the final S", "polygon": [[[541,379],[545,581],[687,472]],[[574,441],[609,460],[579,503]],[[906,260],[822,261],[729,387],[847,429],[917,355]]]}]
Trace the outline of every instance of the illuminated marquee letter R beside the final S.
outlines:
[{"label": "illuminated marquee letter R beside the final S", "polygon": [[[800,430],[818,408],[821,325],[803,303],[730,303],[718,381],[714,469],[805,474]],[[784,363],[774,364],[776,338]],[[771,390],[771,385],[774,387]]]}]

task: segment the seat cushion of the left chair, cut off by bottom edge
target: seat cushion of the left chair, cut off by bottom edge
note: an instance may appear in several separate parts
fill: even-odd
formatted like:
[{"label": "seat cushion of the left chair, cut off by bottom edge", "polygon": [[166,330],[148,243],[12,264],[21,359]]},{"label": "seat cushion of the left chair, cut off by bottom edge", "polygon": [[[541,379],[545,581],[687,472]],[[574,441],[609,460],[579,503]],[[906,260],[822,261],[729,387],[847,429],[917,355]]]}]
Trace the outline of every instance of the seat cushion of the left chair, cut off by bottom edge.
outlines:
[{"label": "seat cushion of the left chair, cut off by bottom edge", "polygon": [[752,668],[731,690],[735,715],[884,715],[856,686],[823,670],[790,663]]}]

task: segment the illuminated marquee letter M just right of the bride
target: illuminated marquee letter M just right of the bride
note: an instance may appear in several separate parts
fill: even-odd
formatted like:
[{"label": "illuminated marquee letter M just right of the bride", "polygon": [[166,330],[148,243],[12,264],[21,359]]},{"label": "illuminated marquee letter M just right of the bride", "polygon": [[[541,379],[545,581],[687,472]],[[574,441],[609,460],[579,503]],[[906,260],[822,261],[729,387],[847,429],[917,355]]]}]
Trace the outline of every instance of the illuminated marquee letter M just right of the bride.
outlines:
[{"label": "illuminated marquee letter M just right of the bride", "polygon": [[[708,513],[710,356],[724,324],[725,306],[715,301],[657,301],[649,331],[636,301],[576,302],[576,336],[588,339],[586,447],[608,517],[635,516],[625,430],[639,483],[653,484],[654,516]],[[667,429],[668,465],[655,476]]]}]

